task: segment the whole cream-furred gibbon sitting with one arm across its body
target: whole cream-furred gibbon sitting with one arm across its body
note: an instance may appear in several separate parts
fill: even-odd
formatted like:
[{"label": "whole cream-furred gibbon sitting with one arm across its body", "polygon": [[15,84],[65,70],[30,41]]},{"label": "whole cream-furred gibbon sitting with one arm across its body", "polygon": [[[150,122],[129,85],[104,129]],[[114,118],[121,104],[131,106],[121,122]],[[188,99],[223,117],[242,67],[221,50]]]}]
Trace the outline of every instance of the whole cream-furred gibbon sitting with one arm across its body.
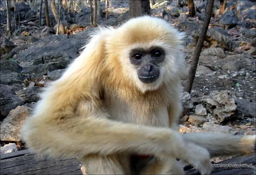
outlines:
[{"label": "whole cream-furred gibbon sitting with one arm across its body", "polygon": [[77,156],[88,174],[131,174],[133,154],[154,156],[137,174],[184,174],[176,158],[209,174],[211,156],[254,152],[255,135],[177,131],[183,38],[149,16],[99,28],[46,87],[21,129],[22,140],[38,154]]}]

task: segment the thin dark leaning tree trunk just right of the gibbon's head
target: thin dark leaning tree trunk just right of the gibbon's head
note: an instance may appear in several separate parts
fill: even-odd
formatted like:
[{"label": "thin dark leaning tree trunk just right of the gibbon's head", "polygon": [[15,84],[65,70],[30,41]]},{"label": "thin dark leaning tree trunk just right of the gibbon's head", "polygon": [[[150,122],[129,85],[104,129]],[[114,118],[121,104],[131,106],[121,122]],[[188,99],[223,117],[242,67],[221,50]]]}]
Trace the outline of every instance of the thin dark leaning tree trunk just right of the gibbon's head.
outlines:
[{"label": "thin dark leaning tree trunk just right of the gibbon's head", "polygon": [[186,85],[184,87],[184,91],[190,93],[191,89],[192,89],[192,85],[193,85],[193,81],[195,78],[195,73],[197,71],[197,64],[198,64],[198,60],[199,60],[199,56],[202,50],[202,47],[204,45],[204,39],[208,30],[208,26],[210,24],[210,19],[212,16],[212,9],[213,9],[213,4],[214,4],[214,0],[209,1],[207,4],[207,14],[206,14],[206,18],[204,21],[204,25],[202,28],[202,31],[200,33],[199,39],[197,41],[197,44],[195,46],[195,52],[192,58],[192,63],[188,72],[188,77],[186,79]]}]

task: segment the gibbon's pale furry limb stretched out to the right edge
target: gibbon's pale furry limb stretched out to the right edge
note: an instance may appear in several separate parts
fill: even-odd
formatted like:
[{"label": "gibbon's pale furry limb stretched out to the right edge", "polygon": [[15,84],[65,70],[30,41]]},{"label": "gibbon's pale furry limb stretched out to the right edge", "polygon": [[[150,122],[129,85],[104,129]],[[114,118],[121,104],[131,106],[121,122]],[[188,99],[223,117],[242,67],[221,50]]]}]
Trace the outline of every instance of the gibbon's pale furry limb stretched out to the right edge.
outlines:
[{"label": "gibbon's pale furry limb stretched out to the right edge", "polygon": [[208,149],[211,157],[232,154],[250,154],[255,152],[256,135],[233,136],[231,134],[192,132],[183,134],[183,137],[188,142]]}]

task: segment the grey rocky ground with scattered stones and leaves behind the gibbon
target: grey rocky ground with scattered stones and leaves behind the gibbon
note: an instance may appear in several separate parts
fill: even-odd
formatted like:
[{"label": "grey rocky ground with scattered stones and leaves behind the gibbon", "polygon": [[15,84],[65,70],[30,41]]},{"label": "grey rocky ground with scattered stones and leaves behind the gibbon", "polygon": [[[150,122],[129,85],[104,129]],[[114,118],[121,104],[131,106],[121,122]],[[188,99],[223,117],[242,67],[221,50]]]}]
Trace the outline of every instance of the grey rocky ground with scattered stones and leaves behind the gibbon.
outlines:
[{"label": "grey rocky ground with scattered stones and leaves behind the gibbon", "polygon": [[[186,33],[184,52],[189,69],[207,1],[194,1],[196,17],[188,17],[188,9],[179,2],[157,1],[152,15],[165,18]],[[101,7],[102,24],[117,26],[128,19],[128,1],[112,1],[108,20],[104,19],[105,2]],[[181,96],[184,111],[180,132],[255,134],[256,5],[253,1],[228,1],[222,16],[217,15],[218,7],[219,1],[215,1],[193,90]],[[38,92],[61,76],[79,55],[87,34],[94,30],[89,7],[66,14],[61,20],[68,26],[68,33],[60,35],[55,35],[56,21],[51,12],[49,28],[44,19],[39,26],[37,12],[29,6],[21,3],[19,8],[20,20],[26,22],[16,30],[12,26],[11,38],[4,34],[6,11],[2,8],[0,16],[1,154],[24,149],[19,130],[37,102]]]}]

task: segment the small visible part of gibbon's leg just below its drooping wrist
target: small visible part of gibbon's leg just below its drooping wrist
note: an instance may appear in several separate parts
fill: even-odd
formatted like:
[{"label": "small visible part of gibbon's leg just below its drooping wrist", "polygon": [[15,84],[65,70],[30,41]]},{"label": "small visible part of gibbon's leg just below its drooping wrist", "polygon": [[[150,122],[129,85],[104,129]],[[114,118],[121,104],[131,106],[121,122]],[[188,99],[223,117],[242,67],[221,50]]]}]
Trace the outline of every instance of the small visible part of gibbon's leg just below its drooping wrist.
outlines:
[{"label": "small visible part of gibbon's leg just below its drooping wrist", "polygon": [[185,174],[183,171],[182,161],[177,161],[175,158],[159,159],[156,158],[154,162],[150,162],[145,169],[139,174],[141,175],[155,175],[155,174]]}]

